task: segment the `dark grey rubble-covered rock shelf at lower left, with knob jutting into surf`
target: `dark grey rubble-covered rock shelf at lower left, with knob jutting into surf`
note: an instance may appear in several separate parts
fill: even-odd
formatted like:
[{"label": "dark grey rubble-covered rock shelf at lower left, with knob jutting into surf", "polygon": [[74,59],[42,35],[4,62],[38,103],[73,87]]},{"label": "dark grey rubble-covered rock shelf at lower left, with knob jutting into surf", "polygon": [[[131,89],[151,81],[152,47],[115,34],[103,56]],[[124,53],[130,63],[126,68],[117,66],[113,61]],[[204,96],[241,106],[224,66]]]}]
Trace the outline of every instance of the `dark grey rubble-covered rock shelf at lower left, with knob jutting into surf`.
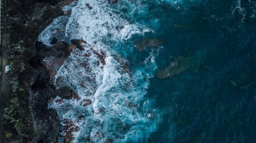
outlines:
[{"label": "dark grey rubble-covered rock shelf at lower left, with knob jutting into surf", "polygon": [[68,87],[55,90],[50,86],[38,87],[32,89],[32,99],[30,106],[33,110],[35,124],[36,124],[36,137],[35,142],[56,142],[60,133],[60,125],[57,120],[56,110],[48,109],[48,103],[60,96],[64,99],[72,98],[72,91]]}]

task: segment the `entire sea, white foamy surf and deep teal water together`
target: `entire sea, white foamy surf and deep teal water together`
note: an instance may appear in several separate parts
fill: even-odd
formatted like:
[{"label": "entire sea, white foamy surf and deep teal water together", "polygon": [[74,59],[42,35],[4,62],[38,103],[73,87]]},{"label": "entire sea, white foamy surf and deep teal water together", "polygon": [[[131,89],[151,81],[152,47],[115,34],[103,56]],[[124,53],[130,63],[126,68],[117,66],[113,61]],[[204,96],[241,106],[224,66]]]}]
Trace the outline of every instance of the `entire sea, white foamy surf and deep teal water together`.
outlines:
[{"label": "entire sea, white foamy surf and deep teal water together", "polygon": [[[49,104],[61,126],[79,127],[73,143],[256,142],[256,2],[80,0],[70,9],[38,40],[87,42],[55,76],[80,99]],[[170,64],[187,67],[156,76]]]}]

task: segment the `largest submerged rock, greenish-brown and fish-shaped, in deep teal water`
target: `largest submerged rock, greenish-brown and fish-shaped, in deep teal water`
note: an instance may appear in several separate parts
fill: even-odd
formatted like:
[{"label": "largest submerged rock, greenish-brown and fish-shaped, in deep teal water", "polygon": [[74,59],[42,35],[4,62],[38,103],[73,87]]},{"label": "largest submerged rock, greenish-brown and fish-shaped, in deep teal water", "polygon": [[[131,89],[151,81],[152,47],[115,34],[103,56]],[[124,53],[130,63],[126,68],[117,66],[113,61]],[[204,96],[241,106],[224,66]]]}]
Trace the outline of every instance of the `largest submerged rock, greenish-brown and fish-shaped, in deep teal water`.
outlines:
[{"label": "largest submerged rock, greenish-brown and fish-shaped, in deep teal water", "polygon": [[200,69],[202,62],[204,62],[204,53],[201,50],[189,52],[187,49],[185,51],[188,57],[178,56],[169,66],[165,67],[159,73],[156,74],[158,78],[170,78],[173,75],[185,72],[187,69],[192,70],[196,73],[201,73]]}]

